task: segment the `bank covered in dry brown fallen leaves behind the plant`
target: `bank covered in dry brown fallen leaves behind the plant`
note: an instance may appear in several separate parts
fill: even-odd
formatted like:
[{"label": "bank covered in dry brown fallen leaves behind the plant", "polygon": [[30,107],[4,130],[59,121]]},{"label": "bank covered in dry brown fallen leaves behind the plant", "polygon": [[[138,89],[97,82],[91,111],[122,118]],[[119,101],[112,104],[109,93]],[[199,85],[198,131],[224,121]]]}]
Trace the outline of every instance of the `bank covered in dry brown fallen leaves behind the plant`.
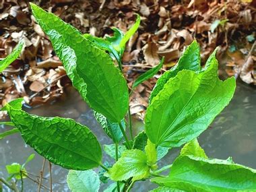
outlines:
[{"label": "bank covered in dry brown fallen leaves behind the plant", "polygon": [[[165,57],[164,67],[154,78],[143,82],[131,96],[131,113],[143,117],[149,94],[161,73],[173,67],[195,38],[201,46],[201,64],[220,46],[218,58],[226,59],[226,73],[247,84],[256,84],[255,29],[256,1],[35,1],[82,33],[112,35],[112,27],[126,32],[141,15],[141,26],[127,43],[123,73],[133,83],[138,75]],[[30,106],[52,102],[65,95],[71,84],[49,38],[34,22],[27,1],[0,3],[0,58],[19,40],[25,49],[1,74],[0,107],[24,97]],[[222,62],[223,63],[223,62]],[[5,117],[0,114],[0,119]]]}]

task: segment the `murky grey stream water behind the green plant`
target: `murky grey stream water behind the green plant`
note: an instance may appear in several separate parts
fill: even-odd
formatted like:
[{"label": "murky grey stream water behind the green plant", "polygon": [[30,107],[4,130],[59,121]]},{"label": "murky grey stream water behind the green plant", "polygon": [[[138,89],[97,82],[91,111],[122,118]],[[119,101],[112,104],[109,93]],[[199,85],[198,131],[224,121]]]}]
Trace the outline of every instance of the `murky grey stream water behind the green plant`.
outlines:
[{"label": "murky grey stream water behind the green plant", "polygon": [[[68,88],[67,97],[53,105],[41,106],[29,109],[29,113],[45,117],[69,117],[87,125],[98,136],[100,143],[110,143],[108,137],[102,132],[100,125],[92,115],[92,110],[79,97],[77,92]],[[214,123],[199,137],[199,143],[210,158],[226,159],[232,156],[234,162],[256,168],[256,90],[255,88],[237,82],[236,93],[230,105],[215,119]],[[137,130],[143,129],[143,124],[135,122]],[[9,127],[0,127],[0,131],[6,131]],[[6,164],[19,162],[22,164],[26,158],[36,153],[26,146],[19,134],[11,135],[0,140],[0,177],[7,177]],[[159,166],[170,164],[179,154],[179,149],[172,150],[159,163]],[[105,156],[104,160],[111,162]],[[42,157],[36,155],[34,160],[28,163],[27,171],[39,175],[42,167]],[[46,162],[44,177],[49,179],[49,167]],[[32,175],[30,175],[32,177]],[[65,183],[67,170],[53,165],[53,191],[69,191]],[[59,183],[59,184],[58,184]],[[49,187],[49,181],[44,180],[44,185]],[[30,179],[25,179],[24,191],[36,191],[36,185]],[[135,183],[133,191],[148,191],[156,185],[151,183]],[[7,191],[7,189],[5,189]],[[47,191],[47,190],[42,190]]]}]

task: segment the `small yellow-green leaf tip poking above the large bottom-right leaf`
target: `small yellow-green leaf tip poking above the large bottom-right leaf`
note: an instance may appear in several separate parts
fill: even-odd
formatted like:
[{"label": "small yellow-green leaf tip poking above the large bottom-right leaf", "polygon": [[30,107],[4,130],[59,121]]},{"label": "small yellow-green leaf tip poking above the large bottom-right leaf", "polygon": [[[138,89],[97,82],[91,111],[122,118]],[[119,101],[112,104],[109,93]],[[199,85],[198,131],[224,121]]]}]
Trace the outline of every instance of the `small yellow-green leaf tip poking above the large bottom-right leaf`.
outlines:
[{"label": "small yellow-green leaf tip poking above the large bottom-right leaf", "polygon": [[193,139],[186,143],[181,149],[181,156],[196,156],[200,158],[207,158],[204,150],[199,146],[197,139]]}]

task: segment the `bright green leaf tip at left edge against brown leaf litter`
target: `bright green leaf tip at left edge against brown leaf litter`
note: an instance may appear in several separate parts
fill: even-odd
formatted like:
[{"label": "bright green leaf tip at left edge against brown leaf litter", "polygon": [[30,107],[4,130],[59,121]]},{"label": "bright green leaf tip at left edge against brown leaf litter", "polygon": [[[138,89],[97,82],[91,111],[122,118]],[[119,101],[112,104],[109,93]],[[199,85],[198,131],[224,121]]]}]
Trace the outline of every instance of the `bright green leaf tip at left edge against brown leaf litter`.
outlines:
[{"label": "bright green leaf tip at left edge against brown leaf litter", "polygon": [[20,41],[19,44],[13,49],[10,55],[5,57],[2,61],[0,61],[0,73],[5,70],[6,67],[8,67],[15,59],[17,59],[20,55],[20,52],[22,51],[24,42]]}]

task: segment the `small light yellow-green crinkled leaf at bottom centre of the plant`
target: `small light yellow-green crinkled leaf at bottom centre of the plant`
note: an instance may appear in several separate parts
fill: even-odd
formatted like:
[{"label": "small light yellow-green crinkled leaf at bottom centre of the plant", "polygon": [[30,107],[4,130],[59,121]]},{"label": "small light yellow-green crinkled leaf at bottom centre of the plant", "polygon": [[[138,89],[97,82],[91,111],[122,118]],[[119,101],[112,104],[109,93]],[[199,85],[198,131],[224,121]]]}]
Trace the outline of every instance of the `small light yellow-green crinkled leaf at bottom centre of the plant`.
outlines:
[{"label": "small light yellow-green crinkled leaf at bottom centre of the plant", "polygon": [[136,180],[146,178],[150,174],[147,156],[140,150],[126,150],[108,170],[108,174],[113,181],[123,181],[130,177]]}]

